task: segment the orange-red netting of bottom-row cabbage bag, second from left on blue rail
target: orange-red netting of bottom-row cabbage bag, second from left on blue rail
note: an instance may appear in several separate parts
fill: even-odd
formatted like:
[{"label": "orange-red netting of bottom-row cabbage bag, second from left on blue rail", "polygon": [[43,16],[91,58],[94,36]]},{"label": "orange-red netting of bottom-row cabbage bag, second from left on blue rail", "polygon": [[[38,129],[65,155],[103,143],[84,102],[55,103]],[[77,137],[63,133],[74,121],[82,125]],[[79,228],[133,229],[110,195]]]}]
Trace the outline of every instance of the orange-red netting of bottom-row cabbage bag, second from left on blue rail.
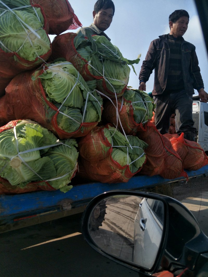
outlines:
[{"label": "orange-red netting of bottom-row cabbage bag, second from left on blue rail", "polygon": [[78,142],[78,176],[101,183],[120,183],[138,173],[132,173],[129,165],[121,166],[113,160],[113,147],[104,135],[105,127],[95,127]]}]

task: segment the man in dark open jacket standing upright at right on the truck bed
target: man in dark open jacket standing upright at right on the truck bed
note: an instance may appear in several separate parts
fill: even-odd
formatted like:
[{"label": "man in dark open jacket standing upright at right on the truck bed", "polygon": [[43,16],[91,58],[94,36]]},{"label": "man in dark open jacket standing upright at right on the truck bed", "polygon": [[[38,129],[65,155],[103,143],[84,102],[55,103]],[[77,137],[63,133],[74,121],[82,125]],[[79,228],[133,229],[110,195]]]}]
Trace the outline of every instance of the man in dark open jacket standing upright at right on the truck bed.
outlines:
[{"label": "man in dark open jacket standing upright at right on the truck bed", "polygon": [[195,46],[185,41],[189,14],[176,10],[169,16],[170,33],[151,42],[139,73],[139,89],[146,91],[146,82],[154,69],[155,125],[161,134],[168,133],[171,114],[175,113],[176,132],[195,140],[192,119],[192,95],[197,89],[201,102],[208,101],[200,73]]}]

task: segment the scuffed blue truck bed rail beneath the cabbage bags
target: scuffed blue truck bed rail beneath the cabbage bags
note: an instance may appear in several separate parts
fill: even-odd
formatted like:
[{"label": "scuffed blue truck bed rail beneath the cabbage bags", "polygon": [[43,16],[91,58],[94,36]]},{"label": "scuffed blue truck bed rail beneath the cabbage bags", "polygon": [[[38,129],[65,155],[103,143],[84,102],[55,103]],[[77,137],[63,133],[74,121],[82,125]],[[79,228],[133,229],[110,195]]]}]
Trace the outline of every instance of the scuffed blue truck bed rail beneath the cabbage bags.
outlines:
[{"label": "scuffed blue truck bed rail beneath the cabbage bags", "polygon": [[[208,175],[208,165],[196,171],[186,171],[189,178]],[[56,191],[36,191],[16,195],[0,195],[0,227],[26,218],[62,212],[86,204],[98,194],[116,189],[141,190],[162,184],[168,184],[186,179],[164,179],[163,177],[138,175],[132,177],[128,183],[87,183],[74,185],[67,193]]]}]

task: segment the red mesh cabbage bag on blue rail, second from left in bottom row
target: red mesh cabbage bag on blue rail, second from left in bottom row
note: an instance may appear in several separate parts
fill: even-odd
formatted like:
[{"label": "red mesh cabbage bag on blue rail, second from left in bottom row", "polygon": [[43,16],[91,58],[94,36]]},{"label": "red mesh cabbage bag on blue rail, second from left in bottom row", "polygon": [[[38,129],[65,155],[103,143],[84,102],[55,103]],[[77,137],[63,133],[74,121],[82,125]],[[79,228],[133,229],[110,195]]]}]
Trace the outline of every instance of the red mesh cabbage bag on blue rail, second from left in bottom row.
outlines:
[{"label": "red mesh cabbage bag on blue rail, second from left in bottom row", "polygon": [[102,183],[128,182],[141,170],[146,146],[110,124],[97,126],[78,142],[78,176]]}]

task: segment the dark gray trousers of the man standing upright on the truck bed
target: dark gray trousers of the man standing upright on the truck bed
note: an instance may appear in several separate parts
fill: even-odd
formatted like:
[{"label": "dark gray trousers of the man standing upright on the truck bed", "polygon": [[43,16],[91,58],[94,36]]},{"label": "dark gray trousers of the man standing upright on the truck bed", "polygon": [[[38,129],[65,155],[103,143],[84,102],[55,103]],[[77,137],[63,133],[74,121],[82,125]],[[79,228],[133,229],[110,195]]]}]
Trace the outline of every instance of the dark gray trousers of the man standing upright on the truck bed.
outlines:
[{"label": "dark gray trousers of the man standing upright on the truck bed", "polygon": [[178,93],[160,94],[153,97],[155,103],[155,126],[163,135],[168,133],[170,127],[170,117],[175,113],[176,133],[184,138],[195,140],[196,128],[192,119],[192,103],[191,95],[185,90]]}]

